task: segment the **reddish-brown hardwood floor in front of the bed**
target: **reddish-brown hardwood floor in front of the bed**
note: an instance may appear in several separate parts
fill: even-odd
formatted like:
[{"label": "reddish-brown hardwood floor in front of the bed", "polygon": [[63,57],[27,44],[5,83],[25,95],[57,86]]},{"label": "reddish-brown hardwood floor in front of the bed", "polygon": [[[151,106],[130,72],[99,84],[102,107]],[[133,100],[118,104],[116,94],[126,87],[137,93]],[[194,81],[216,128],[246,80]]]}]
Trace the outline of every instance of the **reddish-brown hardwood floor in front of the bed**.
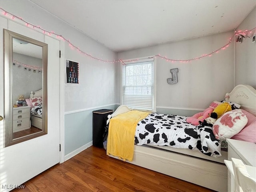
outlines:
[{"label": "reddish-brown hardwood floor in front of the bed", "polygon": [[94,146],[23,185],[24,189],[14,189],[12,192],[212,192],[111,158],[104,149]]}]

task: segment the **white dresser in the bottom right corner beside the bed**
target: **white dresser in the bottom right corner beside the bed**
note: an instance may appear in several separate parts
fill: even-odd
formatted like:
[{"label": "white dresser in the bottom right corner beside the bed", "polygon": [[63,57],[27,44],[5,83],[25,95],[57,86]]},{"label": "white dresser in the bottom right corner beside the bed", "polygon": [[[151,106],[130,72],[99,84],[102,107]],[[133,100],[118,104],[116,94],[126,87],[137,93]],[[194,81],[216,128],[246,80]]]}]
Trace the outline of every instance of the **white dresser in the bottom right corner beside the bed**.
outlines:
[{"label": "white dresser in the bottom right corner beside the bed", "polygon": [[[256,144],[246,141],[227,139],[228,142],[228,161],[231,161],[231,158],[236,158],[242,160],[244,164],[252,167],[256,167]],[[228,163],[225,162],[228,166]],[[234,175],[232,171],[232,163],[228,166],[228,192],[234,192]],[[255,170],[254,168],[250,168],[251,170]],[[255,173],[251,173],[252,176]]]}]

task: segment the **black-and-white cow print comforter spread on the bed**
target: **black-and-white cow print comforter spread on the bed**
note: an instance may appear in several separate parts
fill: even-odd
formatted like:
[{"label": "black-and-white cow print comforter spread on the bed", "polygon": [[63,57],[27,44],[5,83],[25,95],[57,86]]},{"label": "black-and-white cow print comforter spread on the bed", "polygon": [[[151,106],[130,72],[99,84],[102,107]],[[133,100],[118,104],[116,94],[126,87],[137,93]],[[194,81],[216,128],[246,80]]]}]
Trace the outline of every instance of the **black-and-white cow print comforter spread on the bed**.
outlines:
[{"label": "black-and-white cow print comforter spread on the bed", "polygon": [[150,113],[138,122],[135,144],[151,144],[198,150],[208,156],[221,156],[221,143],[214,137],[212,127],[194,126],[186,116]]}]

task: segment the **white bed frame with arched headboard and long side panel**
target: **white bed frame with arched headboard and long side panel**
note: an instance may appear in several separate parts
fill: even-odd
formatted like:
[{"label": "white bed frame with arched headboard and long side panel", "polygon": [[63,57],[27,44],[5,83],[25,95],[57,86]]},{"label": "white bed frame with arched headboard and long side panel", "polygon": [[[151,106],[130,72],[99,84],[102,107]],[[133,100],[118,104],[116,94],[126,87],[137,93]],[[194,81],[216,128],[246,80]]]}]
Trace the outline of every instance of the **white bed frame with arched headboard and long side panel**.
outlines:
[{"label": "white bed frame with arched headboard and long side panel", "polygon": [[[226,94],[225,100],[240,104],[242,109],[256,116],[256,90],[252,86],[236,86]],[[108,117],[111,118],[130,110],[132,109],[121,105]],[[159,148],[164,150],[134,145],[133,161],[127,162],[212,190],[228,191],[228,169],[224,164],[224,160],[228,159],[227,152],[222,151],[222,157],[214,158],[187,149],[167,146]]]}]

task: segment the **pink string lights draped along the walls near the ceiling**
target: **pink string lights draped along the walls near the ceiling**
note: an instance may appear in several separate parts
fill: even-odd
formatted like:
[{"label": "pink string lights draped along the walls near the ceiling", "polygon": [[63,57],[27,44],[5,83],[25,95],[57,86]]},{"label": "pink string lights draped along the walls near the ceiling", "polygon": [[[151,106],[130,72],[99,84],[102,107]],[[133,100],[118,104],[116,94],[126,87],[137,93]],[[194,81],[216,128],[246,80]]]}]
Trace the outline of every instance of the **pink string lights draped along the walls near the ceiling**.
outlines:
[{"label": "pink string lights draped along the walls near the ceiling", "polygon": [[[59,38],[60,40],[69,42],[69,46],[70,46],[70,48],[71,48],[72,50],[76,49],[78,52],[80,52],[80,54],[84,54],[85,56],[90,57],[92,60],[99,60],[99,61],[104,62],[104,63],[105,63],[105,62],[107,62],[107,63],[117,63],[117,62],[121,62],[123,65],[125,64],[122,59],[109,61],[109,60],[103,60],[102,58],[96,58],[96,57],[92,56],[91,54],[87,54],[86,52],[83,52],[82,50],[80,50],[79,47],[76,47],[74,44],[72,44],[72,43],[70,42],[70,40],[67,40],[67,39],[64,38],[61,34],[56,34],[55,32],[50,32],[50,31],[48,31],[48,30],[45,30],[45,29],[41,28],[40,26],[33,25],[33,24],[31,24],[30,22],[25,21],[25,20],[22,19],[21,17],[17,17],[17,16],[15,16],[14,14],[11,14],[10,12],[7,12],[6,10],[4,10],[4,9],[2,9],[2,8],[0,8],[0,10],[2,10],[2,11],[1,11],[1,14],[3,14],[4,16],[10,16],[10,18],[12,18],[12,20],[14,20],[14,19],[19,19],[19,20],[25,22],[26,26],[28,26],[28,27],[38,28],[38,29],[40,29],[44,34],[48,34],[49,36],[51,36],[51,35],[54,34],[54,35],[55,35],[57,38]],[[226,45],[222,46],[221,48],[219,48],[219,49],[217,49],[217,50],[212,51],[211,53],[203,54],[203,55],[200,56],[200,57],[196,57],[196,58],[192,58],[192,59],[187,59],[187,60],[181,60],[181,59],[171,59],[171,58],[167,58],[166,56],[161,56],[160,54],[157,54],[157,55],[152,56],[152,57],[149,57],[149,58],[157,58],[157,57],[159,57],[159,58],[161,58],[161,59],[166,60],[166,62],[172,62],[172,63],[175,63],[175,62],[181,62],[181,63],[192,62],[193,60],[202,59],[202,58],[204,58],[204,57],[210,57],[210,56],[212,56],[212,54],[218,53],[220,50],[225,50],[225,49],[229,46],[229,44],[232,42],[232,40],[234,39],[234,37],[239,36],[239,35],[246,36],[246,34],[248,34],[248,33],[251,34],[252,31],[255,30],[255,29],[256,29],[256,27],[253,28],[253,29],[251,29],[251,30],[245,30],[244,32],[241,31],[241,30],[239,30],[238,32],[235,31],[235,32],[234,32],[234,35],[229,38],[230,41],[229,41]],[[247,37],[250,38],[250,36],[247,36]],[[135,61],[138,61],[138,59],[126,60],[126,62],[135,62]]]}]

